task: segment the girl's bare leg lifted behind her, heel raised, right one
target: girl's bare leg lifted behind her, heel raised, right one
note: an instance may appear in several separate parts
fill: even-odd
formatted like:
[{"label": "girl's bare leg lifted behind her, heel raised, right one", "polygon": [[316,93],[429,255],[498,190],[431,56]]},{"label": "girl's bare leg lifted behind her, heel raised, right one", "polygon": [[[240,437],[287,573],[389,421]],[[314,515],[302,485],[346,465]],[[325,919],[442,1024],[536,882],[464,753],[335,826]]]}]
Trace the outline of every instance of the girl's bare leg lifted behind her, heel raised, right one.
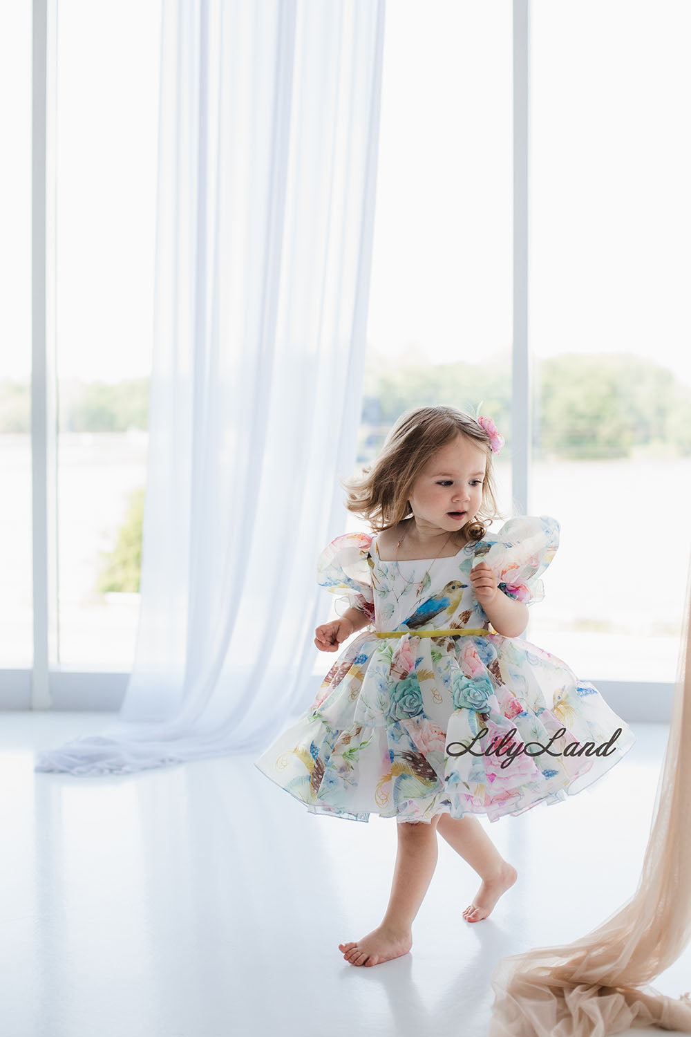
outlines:
[{"label": "girl's bare leg lifted behind her, heel raised, right one", "polygon": [[441,814],[437,830],[450,846],[468,862],[482,878],[474,900],[463,912],[466,922],[487,918],[502,893],[514,885],[518,872],[499,853],[477,817]]}]

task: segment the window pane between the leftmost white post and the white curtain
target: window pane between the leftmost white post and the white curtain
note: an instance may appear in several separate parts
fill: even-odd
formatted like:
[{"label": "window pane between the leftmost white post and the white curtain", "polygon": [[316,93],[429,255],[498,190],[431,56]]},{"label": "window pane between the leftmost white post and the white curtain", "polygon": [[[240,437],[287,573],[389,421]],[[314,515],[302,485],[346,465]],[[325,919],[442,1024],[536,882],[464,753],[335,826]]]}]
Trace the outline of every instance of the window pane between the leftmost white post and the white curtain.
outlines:
[{"label": "window pane between the leftmost white post and the white curtain", "polygon": [[139,613],[160,23],[159,2],[60,0],[49,96],[56,105],[48,276],[56,299],[58,661],[109,670],[132,668]]}]

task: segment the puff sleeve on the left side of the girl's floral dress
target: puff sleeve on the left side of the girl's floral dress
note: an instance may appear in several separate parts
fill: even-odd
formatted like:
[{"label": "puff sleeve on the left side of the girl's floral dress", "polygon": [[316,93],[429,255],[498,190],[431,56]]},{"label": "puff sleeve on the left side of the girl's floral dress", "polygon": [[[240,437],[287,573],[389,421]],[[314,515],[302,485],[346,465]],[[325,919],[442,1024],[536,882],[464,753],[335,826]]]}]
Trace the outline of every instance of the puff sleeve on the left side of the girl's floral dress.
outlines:
[{"label": "puff sleeve on the left side of the girl's floral dress", "polygon": [[[374,622],[374,591],[369,558],[373,533],[344,533],[324,548],[317,560],[317,583],[333,594],[344,592],[336,602],[337,615],[348,608],[359,609]],[[342,605],[339,610],[338,606]]]}]

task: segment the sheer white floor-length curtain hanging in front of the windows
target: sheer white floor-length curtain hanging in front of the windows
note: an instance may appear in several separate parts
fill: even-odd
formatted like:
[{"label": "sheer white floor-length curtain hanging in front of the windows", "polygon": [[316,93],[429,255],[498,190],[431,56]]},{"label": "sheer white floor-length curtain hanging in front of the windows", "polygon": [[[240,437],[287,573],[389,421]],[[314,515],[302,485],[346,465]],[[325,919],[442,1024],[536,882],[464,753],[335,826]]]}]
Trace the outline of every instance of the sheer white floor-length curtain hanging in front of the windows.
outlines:
[{"label": "sheer white floor-length curtain hanging in front of the windows", "polygon": [[165,0],[141,615],[107,774],[261,749],[305,699],[367,325],[384,0]]}]

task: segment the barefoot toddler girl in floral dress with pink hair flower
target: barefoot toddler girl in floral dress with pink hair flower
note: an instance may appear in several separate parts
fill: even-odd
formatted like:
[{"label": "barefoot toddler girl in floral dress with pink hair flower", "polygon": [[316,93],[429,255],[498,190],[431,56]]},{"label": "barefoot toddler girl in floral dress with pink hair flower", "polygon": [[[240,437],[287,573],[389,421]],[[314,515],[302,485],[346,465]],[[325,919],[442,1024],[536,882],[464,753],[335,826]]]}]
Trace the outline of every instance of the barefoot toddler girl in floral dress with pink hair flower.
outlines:
[{"label": "barefoot toddler girl in floral dress with pink hair flower", "polygon": [[[487,918],[516,881],[478,815],[496,821],[597,781],[634,744],[597,689],[524,641],[528,606],[558,546],[548,515],[497,512],[490,418],[421,407],[346,485],[373,533],[337,536],[317,579],[345,611],[316,628],[338,651],[309,709],[256,766],[314,814],[397,820],[381,923],[339,944],[351,964],[407,953],[437,861],[437,832],[482,881],[463,912]],[[339,610],[337,610],[339,611]]]}]

